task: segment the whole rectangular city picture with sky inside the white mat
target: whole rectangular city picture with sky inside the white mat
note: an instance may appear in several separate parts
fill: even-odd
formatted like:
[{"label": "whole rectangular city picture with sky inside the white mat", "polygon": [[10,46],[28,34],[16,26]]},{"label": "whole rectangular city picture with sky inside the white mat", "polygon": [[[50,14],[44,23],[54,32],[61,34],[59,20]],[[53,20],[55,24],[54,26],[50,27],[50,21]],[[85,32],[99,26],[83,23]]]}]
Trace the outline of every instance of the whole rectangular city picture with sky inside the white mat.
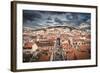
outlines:
[{"label": "whole rectangular city picture with sky inside the white mat", "polygon": [[91,59],[90,13],[23,10],[23,62],[82,59]]}]

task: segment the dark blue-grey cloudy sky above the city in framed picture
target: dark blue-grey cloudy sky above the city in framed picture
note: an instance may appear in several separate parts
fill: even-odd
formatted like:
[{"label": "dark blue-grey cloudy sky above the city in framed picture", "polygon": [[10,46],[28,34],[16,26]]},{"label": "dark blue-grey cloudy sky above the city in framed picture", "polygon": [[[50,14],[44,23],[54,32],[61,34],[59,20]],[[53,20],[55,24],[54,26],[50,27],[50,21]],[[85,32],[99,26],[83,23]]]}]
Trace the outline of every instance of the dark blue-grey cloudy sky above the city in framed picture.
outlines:
[{"label": "dark blue-grey cloudy sky above the city in framed picture", "polygon": [[83,22],[90,25],[90,20],[90,13],[23,10],[23,25],[25,27],[36,28],[67,24],[79,26]]}]

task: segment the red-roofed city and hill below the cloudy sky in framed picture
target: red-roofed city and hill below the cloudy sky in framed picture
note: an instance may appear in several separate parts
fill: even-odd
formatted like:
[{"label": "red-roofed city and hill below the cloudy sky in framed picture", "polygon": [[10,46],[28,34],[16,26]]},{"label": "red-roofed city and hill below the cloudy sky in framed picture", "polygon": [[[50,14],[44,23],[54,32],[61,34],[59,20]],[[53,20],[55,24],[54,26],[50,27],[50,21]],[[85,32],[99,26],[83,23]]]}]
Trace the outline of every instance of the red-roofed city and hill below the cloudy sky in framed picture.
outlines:
[{"label": "red-roofed city and hill below the cloudy sky in framed picture", "polygon": [[23,62],[90,58],[91,34],[83,27],[50,26],[36,30],[25,27],[23,30]]}]

